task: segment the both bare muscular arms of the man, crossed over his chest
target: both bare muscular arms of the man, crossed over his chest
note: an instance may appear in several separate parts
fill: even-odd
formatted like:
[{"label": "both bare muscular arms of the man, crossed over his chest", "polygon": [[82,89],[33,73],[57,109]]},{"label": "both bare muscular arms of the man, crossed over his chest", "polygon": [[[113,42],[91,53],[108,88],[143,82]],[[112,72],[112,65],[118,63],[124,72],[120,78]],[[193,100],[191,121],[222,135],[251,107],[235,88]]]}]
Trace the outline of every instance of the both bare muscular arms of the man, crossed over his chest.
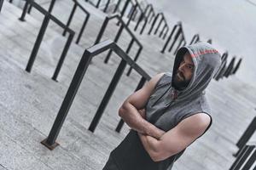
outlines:
[{"label": "both bare muscular arms of the man, crossed over his chest", "polygon": [[162,76],[163,73],[153,77],[143,88],[131,94],[119,109],[119,116],[138,132],[144,149],[153,161],[165,160],[185,149],[205,132],[211,122],[210,116],[198,113],[184,119],[168,132],[147,122],[143,109],[154,91],[155,84]]}]

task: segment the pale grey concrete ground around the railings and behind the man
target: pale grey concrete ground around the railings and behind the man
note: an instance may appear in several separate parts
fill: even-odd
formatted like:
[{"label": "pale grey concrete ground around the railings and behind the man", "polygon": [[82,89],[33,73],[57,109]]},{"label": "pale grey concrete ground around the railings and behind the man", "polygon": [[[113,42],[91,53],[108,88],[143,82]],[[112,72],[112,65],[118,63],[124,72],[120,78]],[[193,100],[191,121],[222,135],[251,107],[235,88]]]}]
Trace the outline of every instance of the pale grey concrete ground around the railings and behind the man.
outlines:
[{"label": "pale grey concrete ground around the railings and behind the man", "polygon": [[[68,5],[70,1],[57,2],[54,14],[61,20],[67,19],[67,14],[61,14],[61,8],[64,11],[71,8]],[[46,7],[49,4],[43,5]],[[49,151],[39,144],[49,133],[84,48],[93,44],[95,33],[99,31],[104,18],[102,12],[86,3],[84,6],[91,11],[93,20],[84,31],[82,43],[79,46],[72,44],[59,82],[54,82],[50,77],[66,41],[61,36],[61,30],[50,24],[32,73],[29,74],[24,68],[38,33],[40,16],[34,11],[32,17],[27,16],[26,22],[20,22],[17,20],[20,9],[4,3],[0,14],[0,149],[3,150],[0,153],[0,169],[20,170],[36,166],[40,169],[101,169],[110,151],[129,131],[127,126],[121,133],[115,133],[113,129],[119,122],[119,105],[133,92],[140,79],[134,71],[131,77],[122,77],[96,132],[87,130],[120,61],[113,55],[108,65],[103,64],[105,53],[93,59],[85,74],[57,139],[61,145]],[[76,16],[78,22],[74,22],[74,30],[79,30],[79,20],[83,20],[83,17],[83,14]],[[115,22],[112,22],[104,38],[113,38],[113,31],[116,30]],[[125,36],[119,41],[123,48],[130,38]],[[172,54],[159,53],[158,48],[163,42],[146,35],[137,37],[144,45],[138,64],[151,76],[160,71],[171,71]],[[228,169],[234,161],[232,153],[237,150],[236,141],[255,116],[255,92],[255,88],[239,82],[237,77],[213,81],[207,90],[208,98],[212,101],[212,128],[189,147],[174,169]]]}]

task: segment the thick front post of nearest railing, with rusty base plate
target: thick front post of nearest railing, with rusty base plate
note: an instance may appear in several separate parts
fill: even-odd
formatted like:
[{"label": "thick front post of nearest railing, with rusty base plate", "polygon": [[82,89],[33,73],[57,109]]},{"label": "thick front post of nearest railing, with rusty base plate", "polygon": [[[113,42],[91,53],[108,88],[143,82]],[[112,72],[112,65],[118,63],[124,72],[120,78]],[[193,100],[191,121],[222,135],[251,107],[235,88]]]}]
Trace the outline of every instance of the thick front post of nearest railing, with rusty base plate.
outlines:
[{"label": "thick front post of nearest railing, with rusty base plate", "polygon": [[58,145],[55,140],[61,131],[63,122],[67,117],[67,112],[69,111],[73,103],[73,99],[79,90],[80,83],[83,80],[85,71],[90,65],[91,59],[92,57],[90,56],[90,53],[85,50],[83,57],[79,62],[79,66],[74,74],[73,80],[70,83],[69,88],[67,89],[67,94],[61,104],[61,109],[56,116],[53,127],[51,128],[48,137],[41,142],[41,144],[44,144],[47,148],[49,148],[49,150],[55,149],[55,147]]}]

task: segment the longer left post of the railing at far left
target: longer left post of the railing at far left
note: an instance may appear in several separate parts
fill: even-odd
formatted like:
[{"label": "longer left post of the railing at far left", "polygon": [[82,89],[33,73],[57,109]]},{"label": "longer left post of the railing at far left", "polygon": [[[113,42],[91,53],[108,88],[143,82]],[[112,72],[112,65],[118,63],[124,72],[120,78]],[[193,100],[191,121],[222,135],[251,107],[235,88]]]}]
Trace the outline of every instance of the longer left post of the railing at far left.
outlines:
[{"label": "longer left post of the railing at far left", "polygon": [[26,71],[27,72],[31,72],[31,70],[32,70],[32,65],[34,64],[34,61],[35,61],[35,59],[37,57],[38,49],[40,48],[41,42],[43,41],[44,33],[45,33],[46,29],[47,29],[48,24],[49,24],[49,14],[46,14],[44,16],[43,24],[42,24],[42,26],[40,28],[39,33],[38,33],[37,40],[36,40],[36,42],[34,44],[34,47],[32,49],[32,53],[30,55],[30,58],[28,60],[27,65],[26,65]]}]

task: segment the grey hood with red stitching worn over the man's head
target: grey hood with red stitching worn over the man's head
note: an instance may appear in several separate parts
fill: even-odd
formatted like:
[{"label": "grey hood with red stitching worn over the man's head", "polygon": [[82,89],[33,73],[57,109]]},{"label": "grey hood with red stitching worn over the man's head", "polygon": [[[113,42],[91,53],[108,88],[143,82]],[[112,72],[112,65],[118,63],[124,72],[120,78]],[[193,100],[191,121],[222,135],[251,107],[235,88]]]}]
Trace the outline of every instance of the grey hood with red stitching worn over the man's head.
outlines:
[{"label": "grey hood with red stitching worn over the man's head", "polygon": [[187,88],[177,91],[177,99],[197,96],[207,88],[212,77],[221,65],[221,55],[207,42],[197,42],[195,44],[179,48],[174,60],[172,71],[172,82],[175,72],[183,59],[183,55],[189,52],[194,62],[195,69],[191,81]]}]

